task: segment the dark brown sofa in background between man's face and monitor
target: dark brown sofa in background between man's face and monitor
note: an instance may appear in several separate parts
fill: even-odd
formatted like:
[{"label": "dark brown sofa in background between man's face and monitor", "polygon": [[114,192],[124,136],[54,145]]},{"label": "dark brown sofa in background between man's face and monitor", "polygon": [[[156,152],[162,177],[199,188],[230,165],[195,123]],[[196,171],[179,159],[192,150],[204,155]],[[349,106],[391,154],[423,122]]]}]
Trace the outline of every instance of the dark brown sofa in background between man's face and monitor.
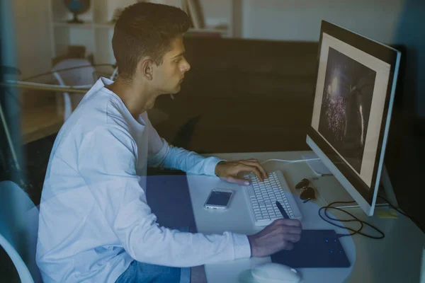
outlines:
[{"label": "dark brown sofa in background between man's face and monitor", "polygon": [[189,37],[184,44],[191,70],[175,100],[157,100],[169,114],[155,125],[159,134],[198,152],[308,149],[317,42]]}]

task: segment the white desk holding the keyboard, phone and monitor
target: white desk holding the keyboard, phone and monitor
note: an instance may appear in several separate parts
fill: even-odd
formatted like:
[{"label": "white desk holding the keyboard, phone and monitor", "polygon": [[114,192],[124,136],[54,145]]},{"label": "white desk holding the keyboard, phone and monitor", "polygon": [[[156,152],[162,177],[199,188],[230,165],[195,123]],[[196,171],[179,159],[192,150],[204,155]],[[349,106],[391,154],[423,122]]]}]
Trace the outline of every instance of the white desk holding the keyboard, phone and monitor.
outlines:
[{"label": "white desk holding the keyboard, phone and monitor", "polygon": [[[310,152],[212,154],[212,156],[226,160],[245,158],[257,158],[259,161],[271,158],[297,160],[302,159],[301,155],[307,153]],[[271,161],[263,166],[266,171],[283,171],[291,190],[302,178],[314,176],[314,173],[306,163]],[[324,180],[326,179],[322,179],[319,183],[314,183],[314,185],[317,187],[326,185]],[[242,192],[243,187],[225,183],[218,178],[196,175],[188,175],[188,186],[198,232],[222,233],[223,231],[234,231],[252,234],[261,231],[261,228],[255,227],[251,222],[245,195],[243,193],[238,194],[238,192]],[[220,212],[211,212],[203,208],[203,203],[208,193],[214,187],[232,187],[238,190],[232,200],[231,207],[225,214],[220,215]],[[336,187],[335,189],[341,189],[341,187]],[[297,199],[299,200],[299,198],[295,197],[295,200]],[[320,198],[315,204],[313,202],[299,203],[303,214],[303,228],[335,229],[337,233],[344,233],[345,229],[338,229],[336,226],[331,226],[319,219],[317,210],[322,205]],[[348,260],[351,263],[354,262],[354,264],[348,269],[302,269],[300,272],[304,278],[303,282],[419,282],[421,253],[425,245],[425,234],[412,221],[402,215],[399,215],[397,219],[380,219],[378,216],[366,216],[359,208],[348,209],[348,211],[358,216],[358,218],[377,226],[378,229],[385,233],[385,238],[373,240],[359,235],[341,238]],[[346,214],[334,212],[334,216],[344,217]],[[237,219],[237,222],[235,222],[235,219]],[[369,230],[365,229],[364,231]],[[373,231],[369,233],[373,233]],[[355,248],[353,248],[354,246]],[[263,262],[270,262],[270,257],[249,258],[205,265],[205,274],[209,283],[248,282],[244,281],[247,270]]]}]

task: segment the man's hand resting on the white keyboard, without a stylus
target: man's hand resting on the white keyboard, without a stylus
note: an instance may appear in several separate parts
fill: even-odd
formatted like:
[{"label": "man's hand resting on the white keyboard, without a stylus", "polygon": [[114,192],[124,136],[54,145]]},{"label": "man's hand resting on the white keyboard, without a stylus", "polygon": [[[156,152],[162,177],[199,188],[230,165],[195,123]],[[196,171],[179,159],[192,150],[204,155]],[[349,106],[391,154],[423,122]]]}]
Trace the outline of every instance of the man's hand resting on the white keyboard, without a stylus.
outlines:
[{"label": "man's hand resting on the white keyboard, without a stylus", "polygon": [[268,178],[266,170],[254,158],[237,161],[220,161],[215,167],[215,175],[227,182],[238,185],[249,185],[249,181],[239,177],[239,173],[243,172],[254,173],[261,182]]}]

